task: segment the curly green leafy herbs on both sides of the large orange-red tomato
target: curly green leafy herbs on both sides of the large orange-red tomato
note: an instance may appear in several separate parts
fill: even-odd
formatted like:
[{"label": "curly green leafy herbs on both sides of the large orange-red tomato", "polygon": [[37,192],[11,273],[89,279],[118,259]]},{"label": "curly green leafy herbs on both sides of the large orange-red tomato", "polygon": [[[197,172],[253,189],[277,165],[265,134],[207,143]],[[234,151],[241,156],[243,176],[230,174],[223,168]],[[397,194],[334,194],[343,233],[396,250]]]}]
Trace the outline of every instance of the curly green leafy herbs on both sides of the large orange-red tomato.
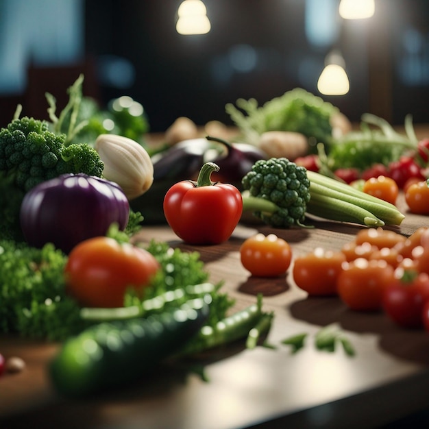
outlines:
[{"label": "curly green leafy herbs on both sides of the large orange-red tomato", "polygon": [[[208,280],[208,272],[197,252],[182,252],[171,249],[167,243],[155,241],[150,243],[148,250],[160,261],[162,269],[153,286],[147,288],[145,299],[175,289],[183,289],[182,302],[210,293],[208,323],[214,325],[225,317],[234,300],[219,291],[221,284],[212,286],[209,292],[204,287],[186,288]],[[66,294],[66,260],[66,255],[50,244],[36,249],[25,243],[0,241],[0,332],[64,340],[94,323],[82,318],[82,308]],[[126,305],[135,304],[135,299],[127,295]],[[158,308],[158,312],[162,310],[162,307]]]}]

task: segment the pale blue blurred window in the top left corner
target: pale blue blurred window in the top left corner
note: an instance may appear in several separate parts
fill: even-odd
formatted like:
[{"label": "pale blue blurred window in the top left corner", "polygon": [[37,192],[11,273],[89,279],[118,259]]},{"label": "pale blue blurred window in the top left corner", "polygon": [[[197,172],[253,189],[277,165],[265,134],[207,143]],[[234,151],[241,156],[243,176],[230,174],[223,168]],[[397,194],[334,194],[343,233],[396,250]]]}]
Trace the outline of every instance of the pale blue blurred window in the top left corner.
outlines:
[{"label": "pale blue blurred window in the top left corner", "polygon": [[0,95],[23,93],[27,66],[84,54],[84,0],[0,0]]}]

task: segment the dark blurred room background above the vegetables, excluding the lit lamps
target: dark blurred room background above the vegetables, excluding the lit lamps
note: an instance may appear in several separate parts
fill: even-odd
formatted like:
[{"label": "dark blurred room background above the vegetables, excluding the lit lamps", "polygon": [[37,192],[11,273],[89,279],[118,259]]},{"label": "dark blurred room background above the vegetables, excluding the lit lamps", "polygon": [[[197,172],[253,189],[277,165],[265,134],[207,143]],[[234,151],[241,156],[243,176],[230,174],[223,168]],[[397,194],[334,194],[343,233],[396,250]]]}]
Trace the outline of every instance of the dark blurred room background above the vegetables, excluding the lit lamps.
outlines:
[{"label": "dark blurred room background above the vegetables, excluding the lit lamps", "polygon": [[180,116],[231,124],[225,103],[260,104],[302,87],[320,95],[325,58],[339,49],[350,92],[322,96],[352,121],[371,112],[394,125],[429,122],[429,2],[376,0],[375,14],[344,20],[339,0],[204,0],[211,30],[175,30],[180,0],[0,0],[0,126],[47,117],[45,92],[84,94],[101,106],[143,104],[151,131]]}]

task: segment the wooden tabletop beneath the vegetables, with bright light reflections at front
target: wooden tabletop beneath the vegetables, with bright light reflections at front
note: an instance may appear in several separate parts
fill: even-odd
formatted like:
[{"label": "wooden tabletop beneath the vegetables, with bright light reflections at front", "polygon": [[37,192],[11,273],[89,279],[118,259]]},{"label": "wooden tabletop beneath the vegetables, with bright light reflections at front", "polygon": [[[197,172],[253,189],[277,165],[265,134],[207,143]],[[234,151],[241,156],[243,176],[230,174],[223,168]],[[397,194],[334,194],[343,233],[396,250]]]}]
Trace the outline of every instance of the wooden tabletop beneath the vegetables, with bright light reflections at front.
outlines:
[{"label": "wooden tabletop beneath the vegetables, with bright light reflections at front", "polygon": [[[427,217],[405,214],[397,229],[403,234],[429,224]],[[340,349],[317,351],[311,343],[297,354],[282,345],[276,350],[234,347],[210,360],[208,382],[164,369],[130,387],[70,401],[56,395],[45,373],[57,345],[0,336],[0,352],[27,363],[22,373],[0,378],[0,428],[373,428],[429,406],[429,334],[401,329],[381,312],[352,312],[336,297],[309,299],[293,283],[291,270],[286,278],[257,280],[241,266],[238,249],[256,230],[285,238],[296,256],[316,246],[339,249],[363,228],[328,221],[315,225],[314,230],[271,230],[241,224],[218,246],[184,245],[167,226],[147,226],[138,239],[197,250],[210,280],[225,281],[223,291],[236,299],[236,308],[263,293],[265,309],[275,311],[270,343],[338,323],[356,356]]]}]

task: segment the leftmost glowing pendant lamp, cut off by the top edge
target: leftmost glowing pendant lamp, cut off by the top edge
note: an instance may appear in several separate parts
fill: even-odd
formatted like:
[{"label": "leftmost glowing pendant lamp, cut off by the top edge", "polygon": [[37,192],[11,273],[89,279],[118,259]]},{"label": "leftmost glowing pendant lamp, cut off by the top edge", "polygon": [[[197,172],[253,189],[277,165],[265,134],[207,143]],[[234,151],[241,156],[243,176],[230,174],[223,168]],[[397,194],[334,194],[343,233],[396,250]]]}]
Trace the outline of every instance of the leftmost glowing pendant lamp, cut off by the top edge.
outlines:
[{"label": "leftmost glowing pendant lamp, cut off by the top edge", "polygon": [[206,6],[201,0],[184,0],[177,10],[176,30],[179,34],[206,34],[210,32]]}]

